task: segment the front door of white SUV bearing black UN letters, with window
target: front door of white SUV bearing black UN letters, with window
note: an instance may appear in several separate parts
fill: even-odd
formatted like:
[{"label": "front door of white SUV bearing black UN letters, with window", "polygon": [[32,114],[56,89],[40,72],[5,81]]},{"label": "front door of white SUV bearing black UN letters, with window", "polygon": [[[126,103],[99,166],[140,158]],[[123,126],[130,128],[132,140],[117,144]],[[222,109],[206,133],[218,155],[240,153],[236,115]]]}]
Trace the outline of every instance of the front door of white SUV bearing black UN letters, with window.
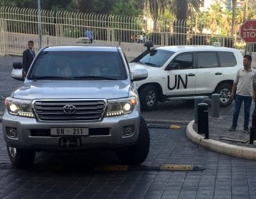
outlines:
[{"label": "front door of white SUV bearing black UN letters, with window", "polygon": [[194,68],[193,52],[178,54],[171,63],[176,63],[176,68],[166,68],[166,94],[176,95],[194,95],[196,85],[196,69]]}]

